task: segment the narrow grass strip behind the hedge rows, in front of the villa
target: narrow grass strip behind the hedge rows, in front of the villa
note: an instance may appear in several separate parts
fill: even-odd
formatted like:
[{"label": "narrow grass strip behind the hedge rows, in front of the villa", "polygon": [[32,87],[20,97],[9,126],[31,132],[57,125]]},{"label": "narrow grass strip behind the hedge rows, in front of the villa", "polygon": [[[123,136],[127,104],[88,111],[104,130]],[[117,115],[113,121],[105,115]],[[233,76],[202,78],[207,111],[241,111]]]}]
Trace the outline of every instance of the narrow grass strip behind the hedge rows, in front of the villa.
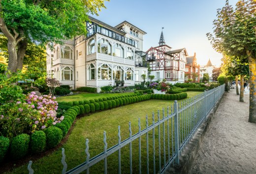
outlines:
[{"label": "narrow grass strip behind the hedge rows, in front of the villa", "polygon": [[97,99],[102,97],[113,97],[117,95],[128,95],[133,94],[134,92],[125,92],[125,93],[88,93],[88,92],[80,92],[79,94],[63,96],[56,98],[56,101],[79,101],[79,100],[90,100]]}]

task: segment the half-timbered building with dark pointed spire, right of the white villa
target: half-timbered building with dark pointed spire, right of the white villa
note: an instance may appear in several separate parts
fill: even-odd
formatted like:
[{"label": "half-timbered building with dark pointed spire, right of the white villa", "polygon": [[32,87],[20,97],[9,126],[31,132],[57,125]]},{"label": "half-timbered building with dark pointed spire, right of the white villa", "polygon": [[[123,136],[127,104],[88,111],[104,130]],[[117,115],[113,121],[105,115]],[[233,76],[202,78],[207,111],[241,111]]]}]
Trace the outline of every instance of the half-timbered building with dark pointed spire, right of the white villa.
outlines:
[{"label": "half-timbered building with dark pointed spire, right of the white villa", "polygon": [[184,83],[186,56],[185,48],[171,50],[172,48],[165,44],[163,33],[161,32],[159,46],[151,47],[147,53],[151,75],[154,80],[165,79],[169,83]]}]

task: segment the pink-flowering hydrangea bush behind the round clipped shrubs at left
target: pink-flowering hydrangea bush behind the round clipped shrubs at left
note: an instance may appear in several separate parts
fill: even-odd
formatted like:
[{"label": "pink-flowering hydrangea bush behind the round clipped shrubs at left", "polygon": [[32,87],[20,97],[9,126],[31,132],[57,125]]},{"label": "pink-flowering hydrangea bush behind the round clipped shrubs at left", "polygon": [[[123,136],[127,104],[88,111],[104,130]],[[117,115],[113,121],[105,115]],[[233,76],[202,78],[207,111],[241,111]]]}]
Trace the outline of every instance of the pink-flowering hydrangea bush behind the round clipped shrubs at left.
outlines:
[{"label": "pink-flowering hydrangea bush behind the round clipped shrubs at left", "polygon": [[25,100],[1,105],[0,133],[13,137],[60,123],[64,116],[57,117],[58,102],[54,99],[50,95],[38,97],[31,92]]}]

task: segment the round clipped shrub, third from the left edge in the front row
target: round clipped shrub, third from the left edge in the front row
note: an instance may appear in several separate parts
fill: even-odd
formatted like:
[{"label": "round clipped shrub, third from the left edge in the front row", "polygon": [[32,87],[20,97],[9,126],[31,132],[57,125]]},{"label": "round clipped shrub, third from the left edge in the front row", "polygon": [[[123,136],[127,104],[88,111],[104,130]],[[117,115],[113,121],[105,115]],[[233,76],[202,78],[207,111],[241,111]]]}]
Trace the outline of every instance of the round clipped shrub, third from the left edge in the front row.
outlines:
[{"label": "round clipped shrub, third from the left edge in the front row", "polygon": [[35,131],[31,135],[31,151],[32,153],[41,153],[46,147],[46,135],[43,131]]}]

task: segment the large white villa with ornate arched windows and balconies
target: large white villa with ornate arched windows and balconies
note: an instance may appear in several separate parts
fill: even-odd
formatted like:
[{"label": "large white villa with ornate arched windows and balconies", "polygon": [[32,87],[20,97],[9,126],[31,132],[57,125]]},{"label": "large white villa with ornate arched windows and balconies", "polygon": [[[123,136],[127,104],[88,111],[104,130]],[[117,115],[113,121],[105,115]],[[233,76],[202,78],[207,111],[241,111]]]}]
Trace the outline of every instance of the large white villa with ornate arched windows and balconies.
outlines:
[{"label": "large white villa with ornate arched windows and balconies", "polygon": [[143,82],[147,75],[146,53],[142,51],[145,31],[127,21],[111,27],[93,17],[87,22],[87,35],[47,46],[47,77],[76,87],[124,86]]}]

